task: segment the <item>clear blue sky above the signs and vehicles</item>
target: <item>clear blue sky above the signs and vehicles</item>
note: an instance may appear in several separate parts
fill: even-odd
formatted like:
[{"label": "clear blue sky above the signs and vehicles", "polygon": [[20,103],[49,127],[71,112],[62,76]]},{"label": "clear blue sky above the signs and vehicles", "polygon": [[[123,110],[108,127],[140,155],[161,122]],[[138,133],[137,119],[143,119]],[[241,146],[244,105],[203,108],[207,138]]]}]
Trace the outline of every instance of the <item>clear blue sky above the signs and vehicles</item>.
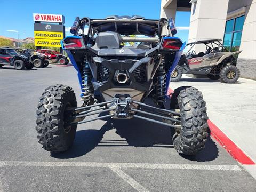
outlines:
[{"label": "clear blue sky above the signs and vehicles", "polygon": [[[18,38],[34,37],[33,13],[65,15],[66,28],[76,16],[105,18],[108,15],[141,15],[147,19],[159,19],[161,0],[0,0],[0,35]],[[190,12],[177,12],[176,26],[189,26]],[[178,30],[176,35],[187,41],[188,30]]]}]

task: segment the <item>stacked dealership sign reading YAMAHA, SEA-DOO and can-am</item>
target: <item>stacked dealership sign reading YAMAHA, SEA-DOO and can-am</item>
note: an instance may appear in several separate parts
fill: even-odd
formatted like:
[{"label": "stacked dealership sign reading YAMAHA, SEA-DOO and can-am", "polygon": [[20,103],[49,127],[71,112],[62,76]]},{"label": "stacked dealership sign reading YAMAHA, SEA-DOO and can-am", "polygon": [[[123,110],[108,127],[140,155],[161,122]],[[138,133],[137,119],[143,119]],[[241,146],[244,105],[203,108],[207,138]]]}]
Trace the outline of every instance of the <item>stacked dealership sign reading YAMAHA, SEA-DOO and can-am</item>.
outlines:
[{"label": "stacked dealership sign reading YAMAHA, SEA-DOO and can-am", "polygon": [[59,14],[33,13],[35,46],[60,47],[60,41],[65,38],[65,17]]}]

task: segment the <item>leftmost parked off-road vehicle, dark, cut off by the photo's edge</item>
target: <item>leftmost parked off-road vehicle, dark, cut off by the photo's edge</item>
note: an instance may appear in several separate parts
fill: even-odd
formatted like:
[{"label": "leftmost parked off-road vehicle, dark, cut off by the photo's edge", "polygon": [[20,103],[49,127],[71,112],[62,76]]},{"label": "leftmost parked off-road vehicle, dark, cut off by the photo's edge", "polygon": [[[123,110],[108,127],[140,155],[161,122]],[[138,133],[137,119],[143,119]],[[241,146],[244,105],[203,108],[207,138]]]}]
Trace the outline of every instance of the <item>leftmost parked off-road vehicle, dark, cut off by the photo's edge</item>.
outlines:
[{"label": "leftmost parked off-road vehicle, dark, cut off by the photo's edge", "polygon": [[29,62],[29,58],[20,55],[12,48],[0,47],[0,67],[13,66],[17,70],[32,69],[33,64]]}]

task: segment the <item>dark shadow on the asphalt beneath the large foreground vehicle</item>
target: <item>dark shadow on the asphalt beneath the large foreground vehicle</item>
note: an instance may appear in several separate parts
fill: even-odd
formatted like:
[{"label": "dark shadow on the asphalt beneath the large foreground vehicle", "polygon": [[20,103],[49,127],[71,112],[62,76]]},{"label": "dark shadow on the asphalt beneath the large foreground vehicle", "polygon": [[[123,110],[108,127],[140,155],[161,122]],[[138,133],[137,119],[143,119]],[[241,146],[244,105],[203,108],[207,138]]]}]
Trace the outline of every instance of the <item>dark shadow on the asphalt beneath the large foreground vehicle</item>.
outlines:
[{"label": "dark shadow on the asphalt beneath the large foreground vehicle", "polygon": [[[106,114],[102,114],[106,115]],[[100,116],[102,116],[100,115]],[[64,153],[51,153],[54,158],[75,158],[86,155],[95,147],[157,147],[173,148],[173,132],[170,127],[150,123],[141,119],[105,119],[106,123],[100,130],[77,131],[73,147]],[[116,129],[116,134],[125,140],[102,140],[106,131]],[[126,141],[127,143],[125,143]],[[174,150],[174,149],[172,149]],[[205,149],[194,156],[183,156],[190,161],[213,161],[218,157],[218,148],[211,139],[207,138]]]}]

